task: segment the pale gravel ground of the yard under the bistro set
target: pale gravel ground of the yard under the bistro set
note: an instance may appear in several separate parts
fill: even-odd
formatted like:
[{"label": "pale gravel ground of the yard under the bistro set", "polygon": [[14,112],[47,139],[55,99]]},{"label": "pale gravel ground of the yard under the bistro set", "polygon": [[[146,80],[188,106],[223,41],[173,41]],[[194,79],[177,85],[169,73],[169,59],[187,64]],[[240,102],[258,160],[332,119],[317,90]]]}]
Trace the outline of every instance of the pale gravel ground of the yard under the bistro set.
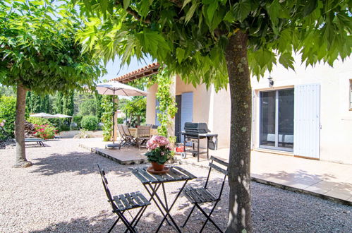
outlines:
[{"label": "pale gravel ground of the yard under the bistro set", "polygon": [[[48,141],[47,147],[28,146],[32,167],[14,169],[13,148],[0,151],[0,232],[107,232],[116,215],[111,213],[97,172],[97,163],[107,172],[111,193],[142,191],[142,184],[128,171],[105,157],[78,147],[79,140]],[[135,165],[142,166],[142,165]],[[199,178],[202,185],[207,169],[182,165]],[[218,187],[221,174],[212,175],[210,186]],[[169,196],[181,188],[180,182],[166,184]],[[217,193],[217,189],[213,189]],[[228,186],[213,213],[213,220],[225,228]],[[171,197],[170,197],[171,198]],[[352,208],[320,198],[252,183],[253,232],[352,232]],[[192,206],[178,198],[171,214],[181,224]],[[135,213],[135,210],[132,211]],[[185,232],[198,232],[205,217],[193,213]],[[150,205],[138,228],[152,232],[161,221],[155,205]],[[121,222],[114,232],[123,232]],[[165,225],[161,232],[172,232]],[[211,223],[204,232],[217,232]]]}]

